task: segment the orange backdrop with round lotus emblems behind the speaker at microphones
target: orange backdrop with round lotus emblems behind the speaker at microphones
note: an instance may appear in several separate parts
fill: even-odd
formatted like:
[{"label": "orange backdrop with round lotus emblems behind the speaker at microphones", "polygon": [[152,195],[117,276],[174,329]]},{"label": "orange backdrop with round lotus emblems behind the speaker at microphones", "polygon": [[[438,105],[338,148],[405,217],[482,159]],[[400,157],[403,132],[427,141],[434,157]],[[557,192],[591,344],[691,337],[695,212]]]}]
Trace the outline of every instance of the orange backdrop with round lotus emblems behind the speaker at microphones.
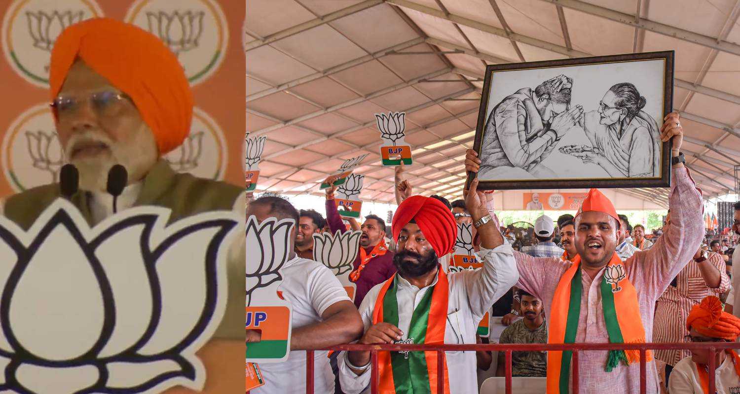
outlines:
[{"label": "orange backdrop with round lotus emblems behind the speaker at microphones", "polygon": [[[51,49],[64,27],[95,16],[158,35],[178,56],[195,95],[173,169],[243,185],[245,2],[236,0],[2,1],[0,198],[58,179],[64,164],[48,106]],[[9,94],[12,92],[12,94]]]}]

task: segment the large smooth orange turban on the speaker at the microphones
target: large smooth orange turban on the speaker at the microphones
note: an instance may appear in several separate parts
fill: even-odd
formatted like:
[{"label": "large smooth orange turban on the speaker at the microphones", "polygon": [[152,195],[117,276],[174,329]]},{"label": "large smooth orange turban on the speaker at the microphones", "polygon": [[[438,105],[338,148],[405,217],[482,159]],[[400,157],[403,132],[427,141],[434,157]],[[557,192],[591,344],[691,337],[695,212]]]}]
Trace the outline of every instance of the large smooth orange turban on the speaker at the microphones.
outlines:
[{"label": "large smooth orange turban on the speaker at the microphones", "polygon": [[160,154],[177,148],[189,135],[190,84],[178,58],[155,35],[112,18],[67,27],[51,52],[52,100],[77,58],[132,98],[154,132]]}]

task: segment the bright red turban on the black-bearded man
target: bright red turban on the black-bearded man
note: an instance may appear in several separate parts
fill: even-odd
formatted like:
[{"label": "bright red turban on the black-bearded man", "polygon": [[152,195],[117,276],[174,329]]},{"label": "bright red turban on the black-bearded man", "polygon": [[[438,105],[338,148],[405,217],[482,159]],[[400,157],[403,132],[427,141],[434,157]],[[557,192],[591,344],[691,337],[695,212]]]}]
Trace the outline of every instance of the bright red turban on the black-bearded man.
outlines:
[{"label": "bright red turban on the black-bearded man", "polygon": [[440,200],[411,196],[403,200],[393,215],[393,239],[398,242],[398,234],[408,222],[414,220],[437,257],[452,251],[457,238],[457,223],[454,216]]}]

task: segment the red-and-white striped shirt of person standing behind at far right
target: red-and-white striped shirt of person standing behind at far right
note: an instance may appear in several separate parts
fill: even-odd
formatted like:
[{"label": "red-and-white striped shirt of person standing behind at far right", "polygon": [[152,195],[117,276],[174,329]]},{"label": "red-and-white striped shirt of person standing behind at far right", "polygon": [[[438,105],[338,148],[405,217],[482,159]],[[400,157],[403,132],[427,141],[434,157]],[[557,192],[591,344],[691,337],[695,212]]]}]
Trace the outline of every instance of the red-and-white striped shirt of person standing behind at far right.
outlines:
[{"label": "red-and-white striped shirt of person standing behind at far right", "polygon": [[[699,264],[711,264],[719,270],[719,286],[709,288],[704,282]],[[694,305],[699,305],[706,296],[718,296],[730,288],[724,260],[719,254],[710,253],[709,261],[698,263],[691,257],[689,263],[676,276],[676,286],[668,286],[655,306],[655,325],[653,342],[684,342],[689,335],[686,318]],[[656,359],[668,365],[676,365],[684,357],[690,356],[688,350],[656,350]]]}]

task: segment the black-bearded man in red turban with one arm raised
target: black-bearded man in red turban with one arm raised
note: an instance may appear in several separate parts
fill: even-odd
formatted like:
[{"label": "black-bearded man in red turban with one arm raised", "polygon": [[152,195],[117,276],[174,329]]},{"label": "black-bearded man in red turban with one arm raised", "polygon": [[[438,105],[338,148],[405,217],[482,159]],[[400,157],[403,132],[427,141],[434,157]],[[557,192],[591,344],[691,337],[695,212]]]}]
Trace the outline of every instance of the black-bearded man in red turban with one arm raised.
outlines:
[{"label": "black-bearded man in red turban with one arm raised", "polygon": [[[517,282],[511,245],[503,244],[498,223],[488,215],[486,199],[476,185],[465,206],[477,222],[482,244],[477,255],[483,268],[445,274],[437,257],[453,248],[454,216],[440,200],[408,197],[393,217],[397,274],[371,288],[363,299],[360,316],[367,328],[361,344],[475,343],[483,314]],[[337,359],[342,390],[363,391],[370,382],[370,352],[349,352]],[[478,390],[474,352],[445,353],[443,370],[437,370],[434,352],[381,352],[378,361],[380,393],[437,393],[440,374],[445,393]]]}]

